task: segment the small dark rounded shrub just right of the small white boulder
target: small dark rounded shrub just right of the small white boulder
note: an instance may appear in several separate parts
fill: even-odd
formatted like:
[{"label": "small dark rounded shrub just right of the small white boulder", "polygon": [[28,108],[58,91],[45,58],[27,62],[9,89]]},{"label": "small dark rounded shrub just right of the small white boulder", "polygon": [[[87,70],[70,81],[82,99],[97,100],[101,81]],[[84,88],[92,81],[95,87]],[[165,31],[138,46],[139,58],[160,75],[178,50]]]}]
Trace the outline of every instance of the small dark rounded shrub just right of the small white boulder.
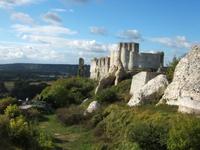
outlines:
[{"label": "small dark rounded shrub just right of the small white boulder", "polygon": [[118,100],[117,93],[113,88],[107,88],[96,95],[96,100],[102,103],[112,103]]}]

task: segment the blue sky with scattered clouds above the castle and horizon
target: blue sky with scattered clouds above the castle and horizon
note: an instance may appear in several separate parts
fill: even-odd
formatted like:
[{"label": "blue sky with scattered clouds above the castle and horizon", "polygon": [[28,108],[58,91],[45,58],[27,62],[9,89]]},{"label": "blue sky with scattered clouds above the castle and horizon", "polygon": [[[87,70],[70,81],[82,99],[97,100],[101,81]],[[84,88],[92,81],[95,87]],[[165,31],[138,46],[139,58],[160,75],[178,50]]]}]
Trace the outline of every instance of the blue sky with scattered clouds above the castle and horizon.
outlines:
[{"label": "blue sky with scattered clouds above the castle and horizon", "polygon": [[167,63],[200,39],[198,0],[0,0],[0,63],[67,63],[116,44],[165,52]]}]

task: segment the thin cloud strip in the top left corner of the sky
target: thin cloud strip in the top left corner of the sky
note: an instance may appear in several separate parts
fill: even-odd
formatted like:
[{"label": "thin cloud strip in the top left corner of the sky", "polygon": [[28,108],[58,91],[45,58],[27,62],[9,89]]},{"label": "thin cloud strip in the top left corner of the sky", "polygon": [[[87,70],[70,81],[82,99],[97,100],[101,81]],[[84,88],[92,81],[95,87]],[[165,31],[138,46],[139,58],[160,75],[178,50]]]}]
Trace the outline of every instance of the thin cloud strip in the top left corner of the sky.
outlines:
[{"label": "thin cloud strip in the top left corner of the sky", "polygon": [[36,2],[36,0],[0,0],[0,8],[12,8]]}]

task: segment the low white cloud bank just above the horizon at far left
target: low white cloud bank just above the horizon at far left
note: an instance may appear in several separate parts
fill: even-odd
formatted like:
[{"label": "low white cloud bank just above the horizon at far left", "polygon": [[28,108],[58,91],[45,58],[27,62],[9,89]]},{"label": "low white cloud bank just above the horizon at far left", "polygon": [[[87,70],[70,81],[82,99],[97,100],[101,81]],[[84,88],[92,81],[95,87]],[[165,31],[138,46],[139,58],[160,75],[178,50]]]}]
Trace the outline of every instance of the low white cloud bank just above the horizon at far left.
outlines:
[{"label": "low white cloud bank just above the horizon at far left", "polygon": [[50,49],[48,45],[0,43],[0,60],[4,63],[5,61],[47,62],[51,60],[56,62],[62,59],[63,54]]}]

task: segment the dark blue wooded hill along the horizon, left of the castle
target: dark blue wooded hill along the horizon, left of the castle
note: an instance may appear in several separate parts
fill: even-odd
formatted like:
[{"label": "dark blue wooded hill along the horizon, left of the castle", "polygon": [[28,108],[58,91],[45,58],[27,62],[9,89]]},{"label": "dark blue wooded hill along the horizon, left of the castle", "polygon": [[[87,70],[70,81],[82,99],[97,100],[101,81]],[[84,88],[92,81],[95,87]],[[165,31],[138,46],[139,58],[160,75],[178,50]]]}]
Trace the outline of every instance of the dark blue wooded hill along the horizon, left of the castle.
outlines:
[{"label": "dark blue wooded hill along the horizon, left of the castle", "polygon": [[[85,74],[89,76],[89,65],[85,65]],[[68,64],[1,64],[0,81],[7,80],[52,80],[58,77],[76,76],[78,65]]]}]

